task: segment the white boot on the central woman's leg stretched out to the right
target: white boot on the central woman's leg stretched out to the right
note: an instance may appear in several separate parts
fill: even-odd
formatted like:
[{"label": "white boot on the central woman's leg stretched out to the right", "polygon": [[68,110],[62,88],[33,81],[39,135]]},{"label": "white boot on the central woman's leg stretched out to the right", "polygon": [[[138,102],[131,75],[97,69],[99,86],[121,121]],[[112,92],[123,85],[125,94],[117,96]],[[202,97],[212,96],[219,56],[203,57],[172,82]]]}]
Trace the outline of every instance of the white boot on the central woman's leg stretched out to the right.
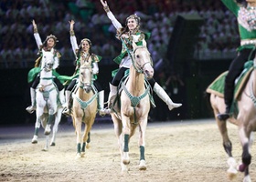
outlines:
[{"label": "white boot on the central woman's leg stretched out to the right", "polygon": [[172,101],[172,99],[167,95],[165,90],[161,86],[159,86],[156,82],[155,82],[153,90],[155,91],[156,95],[159,96],[166,103],[169,110],[172,110],[173,108],[182,106],[182,104],[180,104],[180,103],[174,103]]}]

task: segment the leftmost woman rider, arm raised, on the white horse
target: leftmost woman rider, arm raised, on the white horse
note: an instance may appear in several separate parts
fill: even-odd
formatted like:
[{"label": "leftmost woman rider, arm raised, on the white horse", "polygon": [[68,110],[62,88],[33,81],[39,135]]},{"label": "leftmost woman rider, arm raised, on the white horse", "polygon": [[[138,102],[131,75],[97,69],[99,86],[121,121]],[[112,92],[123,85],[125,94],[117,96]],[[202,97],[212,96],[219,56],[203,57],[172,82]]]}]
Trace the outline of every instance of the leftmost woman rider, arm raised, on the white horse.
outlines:
[{"label": "leftmost woman rider, arm raised, on the white horse", "polygon": [[[37,24],[35,23],[35,20],[32,21],[32,24],[34,28],[34,37],[36,39],[37,47],[39,49],[39,52],[38,52],[39,57],[36,60],[35,67],[32,68],[28,73],[28,83],[31,83],[30,84],[31,106],[27,106],[26,110],[30,114],[36,110],[36,88],[40,81],[40,77],[38,74],[40,72],[40,69],[38,69],[38,67],[41,67],[42,49],[44,49],[45,51],[51,51],[53,49],[54,60],[55,60],[55,64],[54,64],[55,67],[53,69],[56,69],[59,66],[59,57],[60,57],[59,51],[57,51],[54,48],[54,46],[58,42],[57,37],[55,35],[48,35],[46,40],[42,43],[41,37],[37,31]],[[54,73],[59,75],[56,71]],[[65,104],[64,86],[60,83],[59,79],[57,79],[56,77],[54,78],[54,83],[58,86],[59,101],[60,101],[60,104],[63,106]]]}]

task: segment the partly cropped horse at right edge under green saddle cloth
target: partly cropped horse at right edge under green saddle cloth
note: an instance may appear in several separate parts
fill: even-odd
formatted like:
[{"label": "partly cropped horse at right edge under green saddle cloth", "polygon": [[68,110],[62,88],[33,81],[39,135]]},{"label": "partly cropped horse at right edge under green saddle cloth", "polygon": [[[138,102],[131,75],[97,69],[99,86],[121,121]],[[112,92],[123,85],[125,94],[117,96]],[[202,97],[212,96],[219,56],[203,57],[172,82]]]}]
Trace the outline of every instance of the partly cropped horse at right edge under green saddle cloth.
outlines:
[{"label": "partly cropped horse at right edge under green saddle cloth", "polygon": [[[248,62],[246,66],[250,65],[252,62]],[[236,93],[235,101],[237,102],[237,115],[231,116],[228,120],[230,123],[235,124],[239,128],[240,143],[242,146],[242,163],[237,167],[236,160],[232,157],[232,143],[229,140],[228,129],[226,121],[220,121],[217,117],[219,113],[224,113],[225,104],[223,95],[212,91],[209,89],[207,92],[210,94],[210,104],[213,108],[215,119],[219,126],[219,131],[223,140],[223,147],[226,153],[229,156],[229,177],[235,177],[237,170],[244,172],[243,181],[251,181],[249,174],[249,166],[251,164],[251,152],[250,148],[253,142],[253,131],[256,131],[256,70],[255,70],[256,59],[254,58],[253,67],[247,75],[244,76],[242,83],[244,86],[241,86]],[[252,66],[252,64],[251,64]],[[248,69],[248,68],[247,68]],[[220,77],[220,76],[219,76]],[[224,83],[223,83],[224,84]]]}]

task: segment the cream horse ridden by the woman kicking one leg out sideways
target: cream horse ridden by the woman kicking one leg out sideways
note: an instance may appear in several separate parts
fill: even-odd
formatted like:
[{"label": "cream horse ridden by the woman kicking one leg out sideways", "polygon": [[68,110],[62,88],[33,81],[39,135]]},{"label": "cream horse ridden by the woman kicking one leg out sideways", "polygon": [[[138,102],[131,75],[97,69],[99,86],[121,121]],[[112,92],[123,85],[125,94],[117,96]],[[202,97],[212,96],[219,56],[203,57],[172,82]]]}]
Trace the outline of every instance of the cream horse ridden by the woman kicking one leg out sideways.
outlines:
[{"label": "cream horse ridden by the woman kicking one leg out sideways", "polygon": [[150,53],[146,48],[145,41],[143,45],[138,46],[133,43],[133,56],[131,57],[133,65],[130,68],[129,76],[125,83],[121,82],[123,91],[118,101],[121,106],[111,114],[121,153],[122,171],[128,170],[130,163],[129,140],[134,135],[137,126],[139,127],[138,147],[140,147],[139,168],[140,170],[146,169],[144,145],[150,110],[150,86],[145,86],[145,77],[150,79],[154,76]]}]

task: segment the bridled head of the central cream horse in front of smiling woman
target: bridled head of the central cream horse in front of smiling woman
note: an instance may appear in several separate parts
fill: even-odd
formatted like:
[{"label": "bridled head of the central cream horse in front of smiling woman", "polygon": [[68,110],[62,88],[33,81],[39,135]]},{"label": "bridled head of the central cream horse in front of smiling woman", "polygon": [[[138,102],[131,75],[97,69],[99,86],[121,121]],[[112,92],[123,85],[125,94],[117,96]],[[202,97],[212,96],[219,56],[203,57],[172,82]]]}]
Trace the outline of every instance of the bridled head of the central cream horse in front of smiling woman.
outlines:
[{"label": "bridled head of the central cream horse in front of smiling woman", "polygon": [[133,42],[133,67],[137,72],[144,73],[146,78],[150,79],[154,76],[152,58],[143,40],[143,45],[136,45]]}]

